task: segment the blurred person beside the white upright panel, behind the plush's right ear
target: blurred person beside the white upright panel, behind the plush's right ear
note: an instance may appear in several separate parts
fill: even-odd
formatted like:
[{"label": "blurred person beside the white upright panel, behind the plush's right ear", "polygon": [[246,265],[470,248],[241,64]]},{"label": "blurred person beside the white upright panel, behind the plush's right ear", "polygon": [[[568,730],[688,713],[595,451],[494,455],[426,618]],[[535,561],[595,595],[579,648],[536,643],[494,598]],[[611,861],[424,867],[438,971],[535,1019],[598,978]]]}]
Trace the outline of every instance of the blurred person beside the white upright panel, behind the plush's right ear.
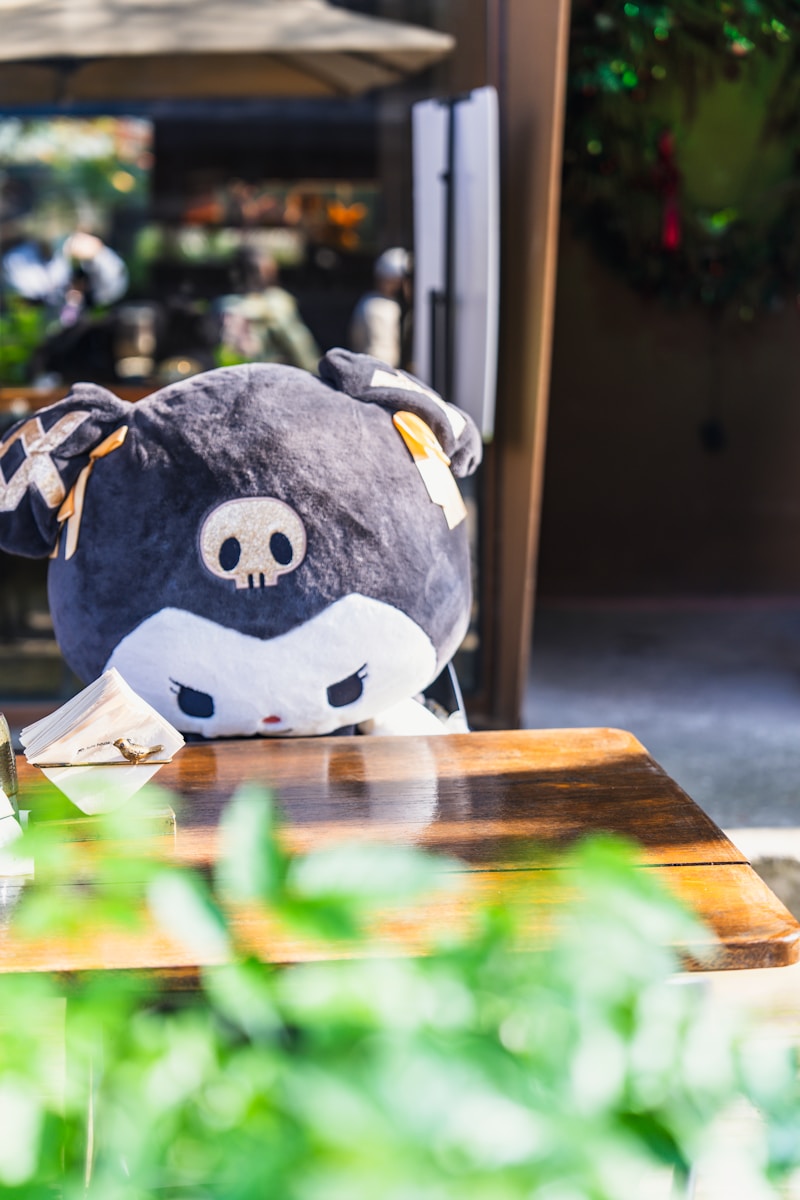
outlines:
[{"label": "blurred person beside the white upright panel, behind the plush's right ear", "polygon": [[404,367],[410,362],[411,256],[392,246],[375,259],[373,272],[373,290],[353,311],[348,344],[392,367]]}]

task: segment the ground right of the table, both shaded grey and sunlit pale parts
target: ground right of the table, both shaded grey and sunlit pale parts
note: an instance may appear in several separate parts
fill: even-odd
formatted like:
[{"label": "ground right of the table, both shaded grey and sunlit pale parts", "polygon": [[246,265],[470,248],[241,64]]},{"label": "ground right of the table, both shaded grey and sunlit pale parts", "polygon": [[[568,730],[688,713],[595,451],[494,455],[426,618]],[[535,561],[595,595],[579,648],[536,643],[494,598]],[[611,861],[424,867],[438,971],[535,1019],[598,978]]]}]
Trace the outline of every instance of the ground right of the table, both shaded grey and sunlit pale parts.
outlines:
[{"label": "ground right of the table, both shaded grey and sunlit pale parts", "polygon": [[[542,604],[523,724],[630,730],[800,917],[800,600]],[[800,1048],[800,964],[693,978],[765,1050]],[[729,1151],[758,1122],[726,1118],[694,1200],[756,1200]],[[669,1178],[643,1181],[642,1200],[672,1194]],[[800,1200],[800,1178],[778,1194]]]}]

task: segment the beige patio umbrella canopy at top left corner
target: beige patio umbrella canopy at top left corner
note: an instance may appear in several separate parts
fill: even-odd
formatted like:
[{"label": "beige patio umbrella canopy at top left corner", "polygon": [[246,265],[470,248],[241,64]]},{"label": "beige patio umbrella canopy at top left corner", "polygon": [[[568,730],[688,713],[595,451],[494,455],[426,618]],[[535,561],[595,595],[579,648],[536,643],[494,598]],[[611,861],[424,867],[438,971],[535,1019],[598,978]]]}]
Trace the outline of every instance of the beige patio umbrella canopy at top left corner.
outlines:
[{"label": "beige patio umbrella canopy at top left corner", "polygon": [[356,96],[453,44],[325,0],[0,0],[0,106]]}]

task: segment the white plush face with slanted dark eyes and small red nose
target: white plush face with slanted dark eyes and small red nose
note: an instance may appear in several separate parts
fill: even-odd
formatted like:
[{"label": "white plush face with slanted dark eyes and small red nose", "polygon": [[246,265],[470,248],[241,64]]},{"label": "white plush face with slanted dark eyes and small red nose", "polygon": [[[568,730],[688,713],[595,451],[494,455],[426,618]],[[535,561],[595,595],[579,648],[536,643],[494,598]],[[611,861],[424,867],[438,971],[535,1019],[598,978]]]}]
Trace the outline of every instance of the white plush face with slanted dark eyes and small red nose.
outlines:
[{"label": "white plush face with slanted dark eyes and small red nose", "polygon": [[106,664],[168,721],[204,737],[287,737],[357,725],[427,686],[428,636],[391,605],[351,594],[261,641],[162,608]]}]

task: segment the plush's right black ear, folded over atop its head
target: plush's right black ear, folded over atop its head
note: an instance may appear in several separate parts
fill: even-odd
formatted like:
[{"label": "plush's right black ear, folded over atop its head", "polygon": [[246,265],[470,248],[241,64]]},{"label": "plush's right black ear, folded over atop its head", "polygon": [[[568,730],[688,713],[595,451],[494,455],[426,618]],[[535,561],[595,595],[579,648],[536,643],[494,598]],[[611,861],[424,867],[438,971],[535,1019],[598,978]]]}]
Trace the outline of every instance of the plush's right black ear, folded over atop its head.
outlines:
[{"label": "plush's right black ear, folded over atop its head", "polygon": [[471,416],[447,404],[427,384],[405,371],[395,370],[368,354],[329,350],[319,364],[325,383],[355,400],[380,404],[390,413],[415,413],[437,436],[450,458],[453,475],[471,475],[483,452],[481,434]]}]

